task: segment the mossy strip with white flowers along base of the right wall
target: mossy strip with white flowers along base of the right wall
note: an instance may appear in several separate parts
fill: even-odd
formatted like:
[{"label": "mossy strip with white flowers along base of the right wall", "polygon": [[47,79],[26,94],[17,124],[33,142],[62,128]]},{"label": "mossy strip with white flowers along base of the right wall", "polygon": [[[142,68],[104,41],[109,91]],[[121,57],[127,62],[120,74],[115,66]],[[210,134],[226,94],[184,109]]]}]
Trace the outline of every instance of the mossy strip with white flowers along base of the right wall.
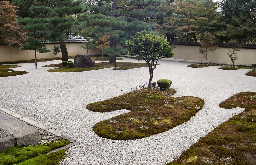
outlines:
[{"label": "mossy strip with white flowers along base of the right wall", "polygon": [[187,67],[190,68],[203,68],[208,66],[222,66],[219,69],[223,70],[237,70],[237,69],[251,69],[251,66],[245,66],[245,65],[225,65],[225,64],[215,64],[215,63],[194,63],[190,64]]}]

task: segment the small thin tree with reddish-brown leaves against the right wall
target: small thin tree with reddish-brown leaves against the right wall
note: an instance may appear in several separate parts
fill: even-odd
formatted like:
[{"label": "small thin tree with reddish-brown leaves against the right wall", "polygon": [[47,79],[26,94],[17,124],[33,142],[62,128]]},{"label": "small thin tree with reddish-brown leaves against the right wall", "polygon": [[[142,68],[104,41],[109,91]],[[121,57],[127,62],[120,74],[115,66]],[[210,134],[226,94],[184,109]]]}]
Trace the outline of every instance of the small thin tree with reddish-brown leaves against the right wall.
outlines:
[{"label": "small thin tree with reddish-brown leaves against the right wall", "polygon": [[215,39],[214,35],[211,35],[210,33],[205,33],[204,37],[199,42],[201,44],[201,46],[199,48],[199,53],[201,53],[203,55],[202,58],[206,59],[206,63],[208,63],[207,53],[209,51],[214,52],[218,48],[218,46],[213,45],[214,39]]}]

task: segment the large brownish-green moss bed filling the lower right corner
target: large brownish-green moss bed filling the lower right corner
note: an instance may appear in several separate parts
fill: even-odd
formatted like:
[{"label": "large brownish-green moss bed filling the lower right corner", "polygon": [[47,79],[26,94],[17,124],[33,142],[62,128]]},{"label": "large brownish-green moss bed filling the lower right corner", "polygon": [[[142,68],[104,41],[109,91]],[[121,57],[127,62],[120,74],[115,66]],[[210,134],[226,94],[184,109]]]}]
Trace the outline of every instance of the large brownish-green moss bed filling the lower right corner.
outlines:
[{"label": "large brownish-green moss bed filling the lower right corner", "polygon": [[168,165],[256,164],[256,93],[238,93],[219,106],[245,110],[220,124]]}]

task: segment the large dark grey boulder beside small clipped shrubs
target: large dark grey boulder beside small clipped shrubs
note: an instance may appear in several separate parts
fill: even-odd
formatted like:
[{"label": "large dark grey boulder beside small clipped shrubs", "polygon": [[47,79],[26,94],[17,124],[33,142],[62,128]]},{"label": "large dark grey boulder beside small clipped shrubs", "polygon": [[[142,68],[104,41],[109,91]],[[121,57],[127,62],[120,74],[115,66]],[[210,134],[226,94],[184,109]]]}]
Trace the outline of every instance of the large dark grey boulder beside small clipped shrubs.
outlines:
[{"label": "large dark grey boulder beside small clipped shrubs", "polygon": [[94,67],[94,64],[94,60],[87,54],[79,53],[75,56],[75,68],[90,68]]}]

